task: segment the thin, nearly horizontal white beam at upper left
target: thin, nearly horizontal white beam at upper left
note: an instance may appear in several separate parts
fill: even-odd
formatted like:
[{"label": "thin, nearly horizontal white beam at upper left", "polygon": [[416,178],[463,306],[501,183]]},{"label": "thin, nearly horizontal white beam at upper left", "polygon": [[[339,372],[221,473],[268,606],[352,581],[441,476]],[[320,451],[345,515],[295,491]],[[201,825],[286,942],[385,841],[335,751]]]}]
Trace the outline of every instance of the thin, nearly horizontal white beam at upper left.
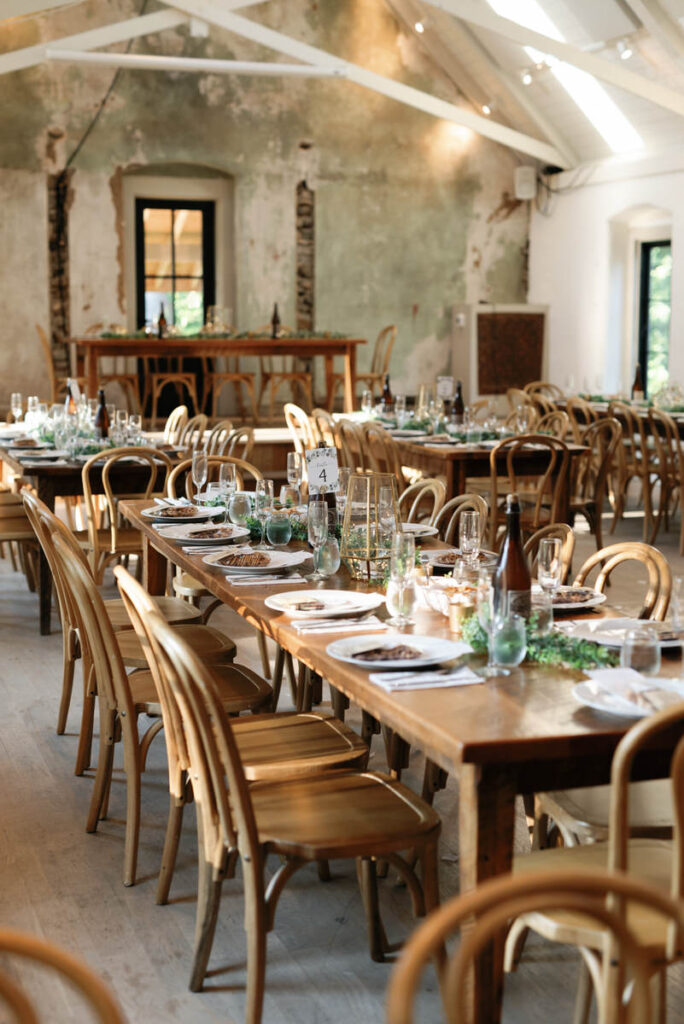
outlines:
[{"label": "thin, nearly horizontal white beam at upper left", "polygon": [[270,63],[266,60],[214,60],[206,57],[174,57],[152,53],[100,53],[89,50],[45,50],[48,60],[69,63],[93,63],[105,68],[129,68],[140,71],[180,71],[200,75],[295,75],[301,78],[344,78],[339,68],[314,65]]}]

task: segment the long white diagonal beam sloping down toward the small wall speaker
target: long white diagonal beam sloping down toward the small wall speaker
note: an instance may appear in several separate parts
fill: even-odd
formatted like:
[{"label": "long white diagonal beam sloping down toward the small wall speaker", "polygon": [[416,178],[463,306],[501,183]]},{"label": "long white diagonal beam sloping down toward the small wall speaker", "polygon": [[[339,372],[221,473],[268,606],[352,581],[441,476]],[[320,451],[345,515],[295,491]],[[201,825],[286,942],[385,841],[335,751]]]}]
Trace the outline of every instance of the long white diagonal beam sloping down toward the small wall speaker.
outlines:
[{"label": "long white diagonal beam sloping down toward the small wall speaker", "polygon": [[556,164],[560,167],[567,167],[567,162],[555,146],[550,145],[548,142],[524,135],[522,132],[507,128],[505,125],[497,124],[487,118],[471,113],[471,111],[457,106],[455,103],[438,99],[436,96],[422,92],[420,89],[404,85],[402,82],[396,82],[391,78],[367,71],[366,68],[359,68],[358,65],[343,60],[332,53],[328,53],[326,50],[309,46],[307,43],[301,43],[290,36],[284,35],[284,33],[275,32],[273,29],[269,29],[257,22],[241,17],[239,14],[231,14],[225,10],[223,2],[218,2],[218,0],[180,0],[175,6],[183,10],[186,14],[195,14],[197,17],[202,17],[212,25],[243,36],[245,39],[250,39],[252,42],[259,43],[279,53],[286,53],[296,60],[303,60],[306,63],[316,65],[317,67],[337,68],[344,72],[345,78],[351,82],[355,82],[357,85],[365,86],[367,89],[378,92],[390,99],[395,99],[400,103],[405,103],[408,106],[423,111],[433,117],[463,125],[477,132],[477,134],[484,135],[496,142],[501,142],[512,150],[526,153],[528,156],[535,157],[545,164]]}]

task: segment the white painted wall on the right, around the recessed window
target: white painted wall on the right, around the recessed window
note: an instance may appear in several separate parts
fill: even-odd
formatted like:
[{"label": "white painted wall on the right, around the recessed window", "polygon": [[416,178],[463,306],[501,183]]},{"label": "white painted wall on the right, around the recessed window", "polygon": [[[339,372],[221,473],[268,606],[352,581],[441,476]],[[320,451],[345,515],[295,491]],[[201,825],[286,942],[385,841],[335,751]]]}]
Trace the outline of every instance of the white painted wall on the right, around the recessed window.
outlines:
[{"label": "white painted wall on the right, around the recessed window", "polygon": [[[600,175],[600,180],[599,180]],[[560,176],[557,186],[571,183]],[[561,386],[585,379],[608,391],[629,388],[636,361],[635,238],[644,210],[668,211],[673,245],[670,375],[684,383],[684,158],[602,170],[588,183],[555,196],[530,221],[528,301],[549,312],[549,374]],[[651,218],[653,219],[653,218]],[[657,218],[655,218],[657,219]],[[652,237],[643,227],[643,237]],[[667,232],[666,232],[667,237]]]}]

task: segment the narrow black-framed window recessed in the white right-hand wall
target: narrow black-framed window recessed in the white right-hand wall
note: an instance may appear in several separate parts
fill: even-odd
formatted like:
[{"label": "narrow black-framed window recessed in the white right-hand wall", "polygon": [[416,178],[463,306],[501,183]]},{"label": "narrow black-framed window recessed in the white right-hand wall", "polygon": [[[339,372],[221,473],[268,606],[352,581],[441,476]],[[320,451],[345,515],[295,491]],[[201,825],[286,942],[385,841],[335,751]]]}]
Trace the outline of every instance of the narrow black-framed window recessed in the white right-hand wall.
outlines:
[{"label": "narrow black-framed window recessed in the white right-hand wall", "polygon": [[639,248],[639,362],[648,395],[669,376],[672,245],[642,242]]}]

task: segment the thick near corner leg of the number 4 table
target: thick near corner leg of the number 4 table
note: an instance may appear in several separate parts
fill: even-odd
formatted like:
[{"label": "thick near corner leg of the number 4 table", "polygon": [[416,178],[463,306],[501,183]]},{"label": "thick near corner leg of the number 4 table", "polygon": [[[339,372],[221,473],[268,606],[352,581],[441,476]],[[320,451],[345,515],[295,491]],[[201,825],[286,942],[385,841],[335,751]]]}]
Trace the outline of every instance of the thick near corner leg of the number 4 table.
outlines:
[{"label": "thick near corner leg of the number 4 table", "polygon": [[[462,765],[459,771],[461,892],[511,869],[515,778],[510,765]],[[467,929],[467,926],[466,926]],[[498,938],[475,962],[468,984],[469,1024],[501,1020],[504,940]]]}]

